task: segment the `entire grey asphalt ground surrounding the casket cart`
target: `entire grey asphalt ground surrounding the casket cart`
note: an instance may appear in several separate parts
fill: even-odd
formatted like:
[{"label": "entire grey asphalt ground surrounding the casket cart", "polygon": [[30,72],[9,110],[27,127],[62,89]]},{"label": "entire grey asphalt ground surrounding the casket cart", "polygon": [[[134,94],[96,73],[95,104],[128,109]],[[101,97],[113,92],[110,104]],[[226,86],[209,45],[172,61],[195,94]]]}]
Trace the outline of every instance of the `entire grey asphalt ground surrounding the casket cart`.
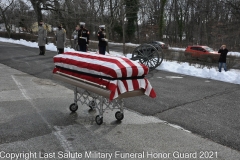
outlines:
[{"label": "entire grey asphalt ground surrounding the casket cart", "polygon": [[213,151],[218,153],[213,159],[240,157],[239,85],[153,71],[148,79],[157,98],[127,98],[122,123],[106,116],[98,126],[86,106],[69,113],[73,87],[53,78],[55,52],[39,56],[37,48],[3,42],[0,48],[1,156],[3,151],[48,153],[46,159],[57,151],[152,151],[179,159],[173,156],[179,151],[198,152],[200,159],[201,151]]}]

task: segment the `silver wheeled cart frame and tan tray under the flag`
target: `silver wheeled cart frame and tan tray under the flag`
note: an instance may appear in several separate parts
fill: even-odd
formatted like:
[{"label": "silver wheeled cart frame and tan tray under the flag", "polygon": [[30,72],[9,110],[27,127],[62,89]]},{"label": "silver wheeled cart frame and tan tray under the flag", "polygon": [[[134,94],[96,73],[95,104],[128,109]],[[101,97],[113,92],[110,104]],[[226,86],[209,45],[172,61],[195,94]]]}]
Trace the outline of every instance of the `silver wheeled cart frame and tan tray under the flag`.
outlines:
[{"label": "silver wheeled cart frame and tan tray under the flag", "polygon": [[70,111],[77,111],[78,102],[80,102],[82,105],[88,105],[91,109],[97,109],[99,115],[96,116],[95,121],[98,125],[103,123],[103,114],[106,110],[119,109],[119,111],[115,113],[115,118],[118,121],[121,121],[124,118],[123,99],[144,95],[144,90],[139,89],[120,94],[116,99],[110,101],[110,91],[106,89],[106,86],[99,85],[81,78],[76,78],[59,71],[54,74],[54,77],[75,86],[74,103],[69,106]]}]

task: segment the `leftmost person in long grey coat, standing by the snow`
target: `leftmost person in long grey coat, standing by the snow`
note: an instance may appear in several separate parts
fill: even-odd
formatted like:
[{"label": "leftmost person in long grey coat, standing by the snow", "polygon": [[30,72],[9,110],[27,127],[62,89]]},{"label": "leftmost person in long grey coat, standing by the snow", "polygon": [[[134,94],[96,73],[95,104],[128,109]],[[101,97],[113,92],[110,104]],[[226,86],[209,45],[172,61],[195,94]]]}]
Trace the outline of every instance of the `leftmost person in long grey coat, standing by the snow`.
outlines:
[{"label": "leftmost person in long grey coat, standing by the snow", "polygon": [[39,55],[45,55],[45,45],[47,40],[47,30],[44,28],[44,23],[41,20],[38,25],[38,46],[40,53]]}]

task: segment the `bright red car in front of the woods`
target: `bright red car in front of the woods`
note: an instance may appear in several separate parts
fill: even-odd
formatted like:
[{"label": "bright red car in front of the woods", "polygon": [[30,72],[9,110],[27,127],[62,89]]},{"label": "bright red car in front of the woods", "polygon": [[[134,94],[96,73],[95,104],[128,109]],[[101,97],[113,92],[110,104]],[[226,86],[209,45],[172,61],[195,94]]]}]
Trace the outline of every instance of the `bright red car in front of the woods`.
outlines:
[{"label": "bright red car in front of the woods", "polygon": [[198,59],[207,62],[216,62],[220,56],[220,54],[212,48],[200,45],[188,46],[184,54],[188,59]]}]

